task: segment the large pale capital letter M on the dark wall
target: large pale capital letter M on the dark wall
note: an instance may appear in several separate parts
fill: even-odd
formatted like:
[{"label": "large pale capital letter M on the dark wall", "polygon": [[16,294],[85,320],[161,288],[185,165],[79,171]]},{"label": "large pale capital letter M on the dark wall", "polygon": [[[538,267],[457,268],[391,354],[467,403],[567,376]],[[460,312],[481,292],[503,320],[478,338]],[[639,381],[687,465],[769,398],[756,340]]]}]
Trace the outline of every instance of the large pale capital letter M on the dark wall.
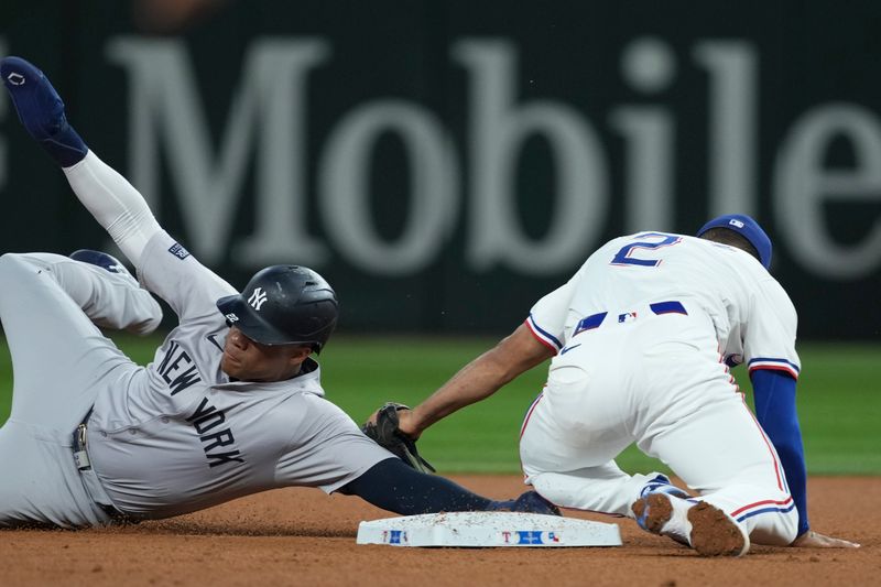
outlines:
[{"label": "large pale capital letter M on the dark wall", "polygon": [[233,253],[263,265],[291,258],[318,264],[324,244],[308,235],[305,198],[305,78],[329,51],[319,40],[261,39],[244,58],[220,149],[209,139],[185,45],[123,36],[107,47],[128,69],[131,86],[131,180],[159,214],[160,142],[187,230],[188,246],[206,263],[222,259],[257,151],[255,230]]}]

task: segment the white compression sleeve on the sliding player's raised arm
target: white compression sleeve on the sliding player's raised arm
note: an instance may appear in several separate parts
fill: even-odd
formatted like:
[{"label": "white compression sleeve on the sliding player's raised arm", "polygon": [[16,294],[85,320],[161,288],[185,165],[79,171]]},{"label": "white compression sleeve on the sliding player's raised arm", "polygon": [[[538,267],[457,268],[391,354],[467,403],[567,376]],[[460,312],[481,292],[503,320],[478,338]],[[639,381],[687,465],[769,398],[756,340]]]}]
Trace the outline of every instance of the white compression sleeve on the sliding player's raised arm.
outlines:
[{"label": "white compression sleeve on the sliding player's raised arm", "polygon": [[93,151],[64,174],[79,202],[140,269],[148,241],[162,230],[143,196]]}]

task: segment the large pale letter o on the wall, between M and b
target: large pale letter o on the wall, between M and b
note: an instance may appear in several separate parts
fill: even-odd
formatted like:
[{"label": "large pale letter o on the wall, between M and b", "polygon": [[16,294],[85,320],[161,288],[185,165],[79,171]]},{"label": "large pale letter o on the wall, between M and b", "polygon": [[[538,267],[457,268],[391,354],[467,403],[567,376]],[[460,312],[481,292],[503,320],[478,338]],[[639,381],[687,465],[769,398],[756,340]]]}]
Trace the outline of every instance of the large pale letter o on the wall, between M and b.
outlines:
[{"label": "large pale letter o on the wall, between M and b", "polygon": [[[384,132],[403,141],[412,177],[411,214],[394,242],[383,242],[373,230],[368,206],[372,149]],[[357,108],[331,132],[319,170],[325,227],[349,261],[371,273],[404,275],[436,258],[458,208],[459,170],[444,127],[427,110],[401,100]]]}]

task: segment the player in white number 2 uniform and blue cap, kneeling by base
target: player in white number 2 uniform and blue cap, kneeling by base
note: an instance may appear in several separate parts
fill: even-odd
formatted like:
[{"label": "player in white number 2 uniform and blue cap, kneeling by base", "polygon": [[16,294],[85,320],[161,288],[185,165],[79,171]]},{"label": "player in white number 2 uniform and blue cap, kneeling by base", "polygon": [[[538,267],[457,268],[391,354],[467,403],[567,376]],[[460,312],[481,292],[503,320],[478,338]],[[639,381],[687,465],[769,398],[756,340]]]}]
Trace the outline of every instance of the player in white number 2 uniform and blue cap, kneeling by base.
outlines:
[{"label": "player in white number 2 uniform and blue cap, kneeling by base", "polygon": [[[741,215],[697,237],[611,240],[513,334],[401,411],[400,431],[415,439],[553,357],[520,438],[525,481],[547,500],[634,518],[704,555],[740,556],[751,542],[856,547],[808,524],[796,313],[770,261],[768,236]],[[741,362],[755,416],[729,372]],[[619,469],[631,443],[698,497]]]}]

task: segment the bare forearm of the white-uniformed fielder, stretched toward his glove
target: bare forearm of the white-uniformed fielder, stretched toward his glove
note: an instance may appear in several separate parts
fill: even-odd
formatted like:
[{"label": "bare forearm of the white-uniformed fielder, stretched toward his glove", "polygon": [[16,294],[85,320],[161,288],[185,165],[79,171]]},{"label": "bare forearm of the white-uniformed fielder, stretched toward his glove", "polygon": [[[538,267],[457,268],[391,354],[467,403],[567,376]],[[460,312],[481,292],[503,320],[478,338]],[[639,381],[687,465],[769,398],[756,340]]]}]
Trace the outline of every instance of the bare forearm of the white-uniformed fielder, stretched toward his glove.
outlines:
[{"label": "bare forearm of the white-uniformed fielder, stretched toward his glove", "polygon": [[520,325],[496,347],[466,365],[413,410],[399,413],[401,432],[418,438],[422,432],[460,407],[479,402],[519,374],[544,362],[553,352]]}]

